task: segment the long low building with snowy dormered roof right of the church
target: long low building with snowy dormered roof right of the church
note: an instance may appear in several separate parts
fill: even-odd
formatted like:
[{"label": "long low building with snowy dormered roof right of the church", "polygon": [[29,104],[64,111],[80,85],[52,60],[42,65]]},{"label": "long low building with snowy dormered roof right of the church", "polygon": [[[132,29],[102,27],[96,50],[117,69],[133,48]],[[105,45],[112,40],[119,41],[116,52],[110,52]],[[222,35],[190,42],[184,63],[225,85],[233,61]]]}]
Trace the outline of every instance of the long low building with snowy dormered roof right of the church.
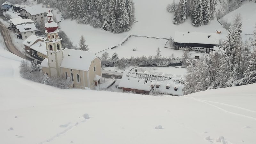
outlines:
[{"label": "long low building with snowy dormered roof right of the church", "polygon": [[182,78],[150,74],[147,72],[124,71],[122,79],[120,82],[115,83],[115,85],[116,88],[123,89],[123,91],[133,91],[139,94],[156,92],[182,96],[183,82]]}]

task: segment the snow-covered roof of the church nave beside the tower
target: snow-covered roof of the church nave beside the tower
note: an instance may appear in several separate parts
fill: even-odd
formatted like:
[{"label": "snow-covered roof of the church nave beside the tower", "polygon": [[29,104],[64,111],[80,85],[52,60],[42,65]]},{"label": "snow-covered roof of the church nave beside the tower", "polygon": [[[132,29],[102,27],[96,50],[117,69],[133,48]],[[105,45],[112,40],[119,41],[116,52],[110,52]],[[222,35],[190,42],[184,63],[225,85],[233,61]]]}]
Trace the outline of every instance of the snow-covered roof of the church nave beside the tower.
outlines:
[{"label": "snow-covered roof of the church nave beside the tower", "polygon": [[97,57],[91,52],[65,49],[60,67],[88,71],[92,61]]}]

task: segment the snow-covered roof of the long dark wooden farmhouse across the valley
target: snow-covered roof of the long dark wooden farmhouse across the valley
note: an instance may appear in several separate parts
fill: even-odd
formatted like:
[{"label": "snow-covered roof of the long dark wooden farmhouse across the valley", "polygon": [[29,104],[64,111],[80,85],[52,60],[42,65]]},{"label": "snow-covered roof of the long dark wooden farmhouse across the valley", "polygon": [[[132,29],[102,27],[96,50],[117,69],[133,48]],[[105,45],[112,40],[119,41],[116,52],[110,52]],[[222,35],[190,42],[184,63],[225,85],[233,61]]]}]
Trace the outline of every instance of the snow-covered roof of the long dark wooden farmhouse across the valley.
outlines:
[{"label": "snow-covered roof of the long dark wooden farmhouse across the valley", "polygon": [[[209,36],[209,38],[208,38]],[[201,32],[175,32],[174,42],[197,43],[197,44],[219,44],[219,34]]]}]

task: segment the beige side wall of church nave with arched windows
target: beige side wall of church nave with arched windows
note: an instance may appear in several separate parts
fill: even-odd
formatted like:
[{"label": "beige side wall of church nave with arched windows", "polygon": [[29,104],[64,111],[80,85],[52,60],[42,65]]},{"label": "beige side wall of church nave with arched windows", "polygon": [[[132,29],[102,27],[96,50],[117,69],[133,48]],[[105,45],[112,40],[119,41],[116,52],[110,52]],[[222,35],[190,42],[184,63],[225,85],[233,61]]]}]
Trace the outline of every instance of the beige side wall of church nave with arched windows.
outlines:
[{"label": "beige side wall of church nave with arched windows", "polygon": [[[61,73],[66,77],[66,73],[68,74],[68,76],[70,76],[71,79],[71,73],[73,73],[73,77],[74,77],[74,87],[76,88],[84,88],[87,87],[87,77],[86,75],[86,71],[82,71],[82,70],[76,70],[76,69],[71,69],[70,68],[61,68]],[[84,73],[84,74],[83,74]],[[77,74],[79,75],[80,81],[77,81]]]}]

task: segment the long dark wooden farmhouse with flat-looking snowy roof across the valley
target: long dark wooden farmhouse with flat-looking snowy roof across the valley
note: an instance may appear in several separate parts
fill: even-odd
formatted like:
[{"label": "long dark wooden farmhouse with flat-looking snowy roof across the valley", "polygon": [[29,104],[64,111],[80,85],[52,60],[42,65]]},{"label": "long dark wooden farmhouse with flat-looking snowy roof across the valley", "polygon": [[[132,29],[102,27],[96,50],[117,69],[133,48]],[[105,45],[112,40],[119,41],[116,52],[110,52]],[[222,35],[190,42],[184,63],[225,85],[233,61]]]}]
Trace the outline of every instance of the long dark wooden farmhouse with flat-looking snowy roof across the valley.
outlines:
[{"label": "long dark wooden farmhouse with flat-looking snowy roof across the valley", "polygon": [[219,44],[219,34],[200,32],[175,32],[174,49],[211,52]]}]

